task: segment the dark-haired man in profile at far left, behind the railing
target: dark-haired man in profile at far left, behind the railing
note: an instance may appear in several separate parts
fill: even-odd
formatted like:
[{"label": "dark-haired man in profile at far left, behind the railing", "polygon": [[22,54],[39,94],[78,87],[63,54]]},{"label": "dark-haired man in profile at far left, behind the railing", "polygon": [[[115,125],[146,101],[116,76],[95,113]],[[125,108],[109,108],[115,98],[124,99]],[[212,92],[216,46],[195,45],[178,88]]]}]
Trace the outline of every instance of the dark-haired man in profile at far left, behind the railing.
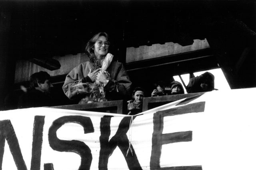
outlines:
[{"label": "dark-haired man in profile at far left, behind the railing", "polygon": [[40,71],[30,76],[30,89],[20,96],[18,108],[52,106],[52,96],[50,95],[50,75]]}]

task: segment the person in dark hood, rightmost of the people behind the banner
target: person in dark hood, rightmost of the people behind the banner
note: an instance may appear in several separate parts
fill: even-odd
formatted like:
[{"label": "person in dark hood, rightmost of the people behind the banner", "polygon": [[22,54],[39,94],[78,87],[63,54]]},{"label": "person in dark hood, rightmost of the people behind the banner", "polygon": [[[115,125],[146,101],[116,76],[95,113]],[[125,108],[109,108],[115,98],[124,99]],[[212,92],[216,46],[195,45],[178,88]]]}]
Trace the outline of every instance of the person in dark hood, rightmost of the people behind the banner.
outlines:
[{"label": "person in dark hood, rightmost of the people behind the banner", "polygon": [[200,76],[190,78],[186,90],[188,93],[217,90],[214,88],[214,75],[210,72],[204,72]]}]

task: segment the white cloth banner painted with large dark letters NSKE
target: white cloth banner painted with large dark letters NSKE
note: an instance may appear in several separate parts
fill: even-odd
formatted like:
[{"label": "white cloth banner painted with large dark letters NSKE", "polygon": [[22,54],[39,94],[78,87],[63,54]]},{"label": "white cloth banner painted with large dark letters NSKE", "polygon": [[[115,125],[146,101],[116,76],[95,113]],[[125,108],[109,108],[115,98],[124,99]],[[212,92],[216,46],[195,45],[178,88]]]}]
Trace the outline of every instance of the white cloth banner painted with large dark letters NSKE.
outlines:
[{"label": "white cloth banner painted with large dark letters NSKE", "polygon": [[256,169],[256,88],[213,91],[136,116],[0,112],[2,170]]}]

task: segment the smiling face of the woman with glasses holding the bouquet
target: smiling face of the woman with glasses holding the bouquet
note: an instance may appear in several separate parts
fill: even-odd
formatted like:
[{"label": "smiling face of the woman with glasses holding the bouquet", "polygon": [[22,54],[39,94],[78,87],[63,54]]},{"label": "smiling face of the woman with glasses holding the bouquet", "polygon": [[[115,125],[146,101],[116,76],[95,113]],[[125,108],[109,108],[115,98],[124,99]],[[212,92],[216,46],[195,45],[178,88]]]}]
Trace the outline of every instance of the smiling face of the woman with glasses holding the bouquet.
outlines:
[{"label": "smiling face of the woman with glasses holding the bouquet", "polygon": [[105,44],[107,41],[105,36],[100,36],[98,38],[98,41],[94,44],[94,54],[97,57],[97,59],[101,60],[103,57],[105,57],[108,54],[108,45]]}]

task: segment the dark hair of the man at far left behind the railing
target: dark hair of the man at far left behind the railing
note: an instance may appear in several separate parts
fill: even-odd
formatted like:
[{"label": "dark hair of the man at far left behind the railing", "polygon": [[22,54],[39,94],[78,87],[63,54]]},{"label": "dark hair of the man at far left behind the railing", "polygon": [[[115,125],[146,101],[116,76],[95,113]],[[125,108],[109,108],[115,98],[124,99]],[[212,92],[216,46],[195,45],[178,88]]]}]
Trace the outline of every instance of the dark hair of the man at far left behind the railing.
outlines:
[{"label": "dark hair of the man at far left behind the railing", "polygon": [[45,80],[50,80],[50,78],[51,76],[45,71],[36,72],[30,76],[30,88],[38,87],[38,83],[43,84]]}]

